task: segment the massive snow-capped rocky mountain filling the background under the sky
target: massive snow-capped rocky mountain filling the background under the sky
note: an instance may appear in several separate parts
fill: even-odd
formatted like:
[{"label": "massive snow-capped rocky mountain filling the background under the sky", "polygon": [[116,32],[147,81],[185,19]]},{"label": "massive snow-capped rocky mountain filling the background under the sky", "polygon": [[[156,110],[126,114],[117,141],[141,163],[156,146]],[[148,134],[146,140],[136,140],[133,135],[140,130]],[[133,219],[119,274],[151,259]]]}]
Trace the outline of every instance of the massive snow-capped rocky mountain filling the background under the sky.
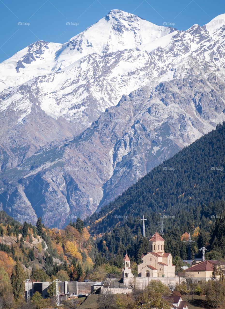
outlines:
[{"label": "massive snow-capped rocky mountain filling the background under the sky", "polygon": [[224,34],[225,15],[178,31],[112,10],[2,62],[2,209],[84,218],[224,121]]}]

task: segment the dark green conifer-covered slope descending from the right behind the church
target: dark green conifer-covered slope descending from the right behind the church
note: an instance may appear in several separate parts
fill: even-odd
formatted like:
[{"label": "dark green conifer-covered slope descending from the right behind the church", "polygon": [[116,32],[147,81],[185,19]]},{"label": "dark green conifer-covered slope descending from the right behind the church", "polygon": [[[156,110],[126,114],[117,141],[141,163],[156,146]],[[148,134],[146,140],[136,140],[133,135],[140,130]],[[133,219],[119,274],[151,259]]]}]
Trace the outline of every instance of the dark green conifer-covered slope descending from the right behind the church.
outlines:
[{"label": "dark green conifer-covered slope descending from the right behind the church", "polygon": [[[105,248],[106,255],[118,253],[118,250],[122,254],[127,250],[131,256],[135,256],[135,251],[137,258],[138,240],[144,241],[147,250],[147,242],[141,240],[140,219],[144,214],[147,236],[158,229],[163,217],[166,248],[173,256],[187,257],[186,245],[181,242],[185,232],[197,237],[193,252],[197,253],[199,246],[210,243],[211,249],[212,246],[219,248],[224,243],[225,229],[220,229],[221,237],[217,239],[219,234],[215,226],[224,225],[224,219],[216,221],[214,217],[222,216],[225,209],[224,166],[223,123],[155,167],[114,202],[87,218],[89,232],[97,240],[110,232],[104,235],[104,242],[98,240],[99,248],[103,251]],[[221,250],[224,256],[224,249]]]}]

